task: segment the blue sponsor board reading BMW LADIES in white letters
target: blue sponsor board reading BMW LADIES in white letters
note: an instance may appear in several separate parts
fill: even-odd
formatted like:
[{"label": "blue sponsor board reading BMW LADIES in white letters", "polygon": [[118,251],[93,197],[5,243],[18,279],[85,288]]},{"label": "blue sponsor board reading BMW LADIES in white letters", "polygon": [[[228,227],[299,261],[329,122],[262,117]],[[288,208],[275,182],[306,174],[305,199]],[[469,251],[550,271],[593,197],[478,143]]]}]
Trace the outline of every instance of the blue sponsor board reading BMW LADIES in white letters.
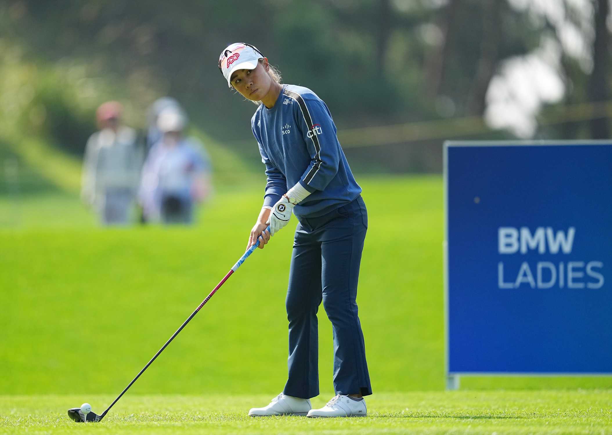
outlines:
[{"label": "blue sponsor board reading BMW LADIES in white letters", "polygon": [[444,157],[447,373],[612,374],[612,142]]}]

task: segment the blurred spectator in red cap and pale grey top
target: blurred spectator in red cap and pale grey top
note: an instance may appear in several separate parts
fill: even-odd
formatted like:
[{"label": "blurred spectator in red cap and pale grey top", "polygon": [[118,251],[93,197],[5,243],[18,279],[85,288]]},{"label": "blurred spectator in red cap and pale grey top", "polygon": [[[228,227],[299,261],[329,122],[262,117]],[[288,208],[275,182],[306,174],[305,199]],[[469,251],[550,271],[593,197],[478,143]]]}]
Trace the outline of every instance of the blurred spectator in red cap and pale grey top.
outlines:
[{"label": "blurred spectator in red cap and pale grey top", "polygon": [[89,137],[83,162],[81,197],[105,225],[129,222],[143,161],[135,130],[121,124],[122,111],[115,101],[100,105],[100,131]]}]

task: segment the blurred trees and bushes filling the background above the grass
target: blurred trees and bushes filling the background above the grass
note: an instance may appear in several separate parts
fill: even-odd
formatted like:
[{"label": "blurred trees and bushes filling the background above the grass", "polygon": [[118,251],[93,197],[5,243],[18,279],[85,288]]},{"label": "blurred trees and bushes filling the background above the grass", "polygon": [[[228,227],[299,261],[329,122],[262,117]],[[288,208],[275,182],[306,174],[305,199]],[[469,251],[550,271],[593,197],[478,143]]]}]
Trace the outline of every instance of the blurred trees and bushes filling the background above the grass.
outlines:
[{"label": "blurred trees and bushes filling the background above the grass", "polygon": [[[171,95],[215,163],[260,171],[254,107],[217,69],[236,41],[326,101],[357,171],[441,171],[443,139],[607,138],[608,13],[608,0],[7,0],[1,139],[80,158],[97,105],[121,100],[143,128]],[[532,69],[517,84],[521,62]],[[504,108],[521,94],[513,124]]]}]

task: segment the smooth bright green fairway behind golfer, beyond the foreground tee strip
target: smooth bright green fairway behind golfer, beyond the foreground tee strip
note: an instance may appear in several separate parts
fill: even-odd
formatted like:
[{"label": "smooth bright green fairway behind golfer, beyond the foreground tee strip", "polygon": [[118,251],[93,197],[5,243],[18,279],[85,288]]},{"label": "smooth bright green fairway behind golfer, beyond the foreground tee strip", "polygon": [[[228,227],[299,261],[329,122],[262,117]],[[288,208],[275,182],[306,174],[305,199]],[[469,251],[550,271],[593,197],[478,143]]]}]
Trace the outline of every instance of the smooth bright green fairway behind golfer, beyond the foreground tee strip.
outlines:
[{"label": "smooth bright green fairway behind golfer, beyond the foreground tee strip", "polygon": [[[357,302],[373,389],[442,390],[441,179],[360,182],[370,226]],[[0,376],[0,392],[121,391],[239,258],[261,194],[259,187],[218,193],[193,228],[99,228],[76,198],[24,199],[29,225],[0,229],[8,302],[0,310],[0,373],[11,374]],[[130,393],[282,389],[295,225],[245,262]],[[319,319],[321,387],[330,389],[332,332],[323,308]],[[81,366],[89,371],[75,382],[68,374]],[[612,388],[612,378],[465,377],[461,384]]]}]

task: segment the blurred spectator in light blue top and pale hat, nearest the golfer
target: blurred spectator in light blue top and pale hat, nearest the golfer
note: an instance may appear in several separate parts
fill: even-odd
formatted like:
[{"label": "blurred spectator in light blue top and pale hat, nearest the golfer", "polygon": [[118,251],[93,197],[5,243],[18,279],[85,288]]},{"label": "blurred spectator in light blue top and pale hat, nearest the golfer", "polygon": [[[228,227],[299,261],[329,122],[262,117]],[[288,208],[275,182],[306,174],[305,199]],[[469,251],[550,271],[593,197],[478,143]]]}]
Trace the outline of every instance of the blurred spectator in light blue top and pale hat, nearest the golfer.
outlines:
[{"label": "blurred spectator in light blue top and pale hat, nearest the golfer", "polygon": [[198,139],[185,138],[187,117],[177,106],[157,117],[162,133],[143,166],[140,202],[146,221],[188,224],[193,205],[209,195],[210,164]]}]

